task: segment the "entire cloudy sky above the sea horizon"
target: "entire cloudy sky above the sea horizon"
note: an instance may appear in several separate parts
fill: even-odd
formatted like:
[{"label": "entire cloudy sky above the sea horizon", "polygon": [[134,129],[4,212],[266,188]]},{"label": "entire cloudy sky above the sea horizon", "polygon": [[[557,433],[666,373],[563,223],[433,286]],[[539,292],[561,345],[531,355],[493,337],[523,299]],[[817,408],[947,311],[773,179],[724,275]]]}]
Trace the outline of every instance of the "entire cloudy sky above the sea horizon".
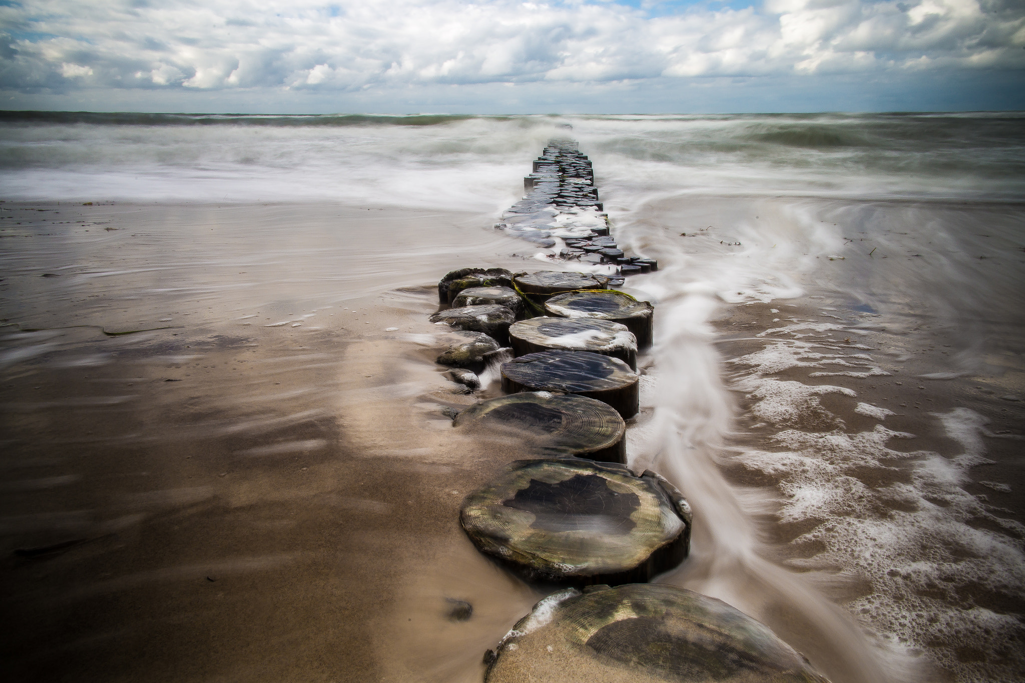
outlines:
[{"label": "entire cloudy sky above the sea horizon", "polygon": [[1025,0],[0,0],[0,109],[1025,109]]}]

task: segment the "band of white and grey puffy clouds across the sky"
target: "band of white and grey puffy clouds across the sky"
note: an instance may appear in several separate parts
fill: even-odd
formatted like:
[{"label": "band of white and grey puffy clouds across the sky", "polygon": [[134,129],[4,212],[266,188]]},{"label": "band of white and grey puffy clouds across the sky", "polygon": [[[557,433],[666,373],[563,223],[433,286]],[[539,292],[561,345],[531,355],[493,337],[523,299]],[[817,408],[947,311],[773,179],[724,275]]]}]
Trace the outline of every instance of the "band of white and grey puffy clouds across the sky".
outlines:
[{"label": "band of white and grey puffy clouds across the sky", "polygon": [[1017,0],[767,0],[659,15],[585,0],[23,0],[0,6],[0,87],[23,92],[1025,68]]}]

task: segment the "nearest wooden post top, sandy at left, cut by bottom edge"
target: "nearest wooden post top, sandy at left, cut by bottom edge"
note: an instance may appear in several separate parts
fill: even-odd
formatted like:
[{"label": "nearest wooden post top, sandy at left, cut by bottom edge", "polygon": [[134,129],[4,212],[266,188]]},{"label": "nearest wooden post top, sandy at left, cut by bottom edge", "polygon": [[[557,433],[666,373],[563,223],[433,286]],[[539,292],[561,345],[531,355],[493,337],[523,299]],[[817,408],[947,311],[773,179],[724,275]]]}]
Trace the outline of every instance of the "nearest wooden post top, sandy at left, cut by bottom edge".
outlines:
[{"label": "nearest wooden post top, sandy at left, cut by bottom edge", "polygon": [[486,683],[828,683],[762,623],[660,584],[554,593],[486,660]]}]

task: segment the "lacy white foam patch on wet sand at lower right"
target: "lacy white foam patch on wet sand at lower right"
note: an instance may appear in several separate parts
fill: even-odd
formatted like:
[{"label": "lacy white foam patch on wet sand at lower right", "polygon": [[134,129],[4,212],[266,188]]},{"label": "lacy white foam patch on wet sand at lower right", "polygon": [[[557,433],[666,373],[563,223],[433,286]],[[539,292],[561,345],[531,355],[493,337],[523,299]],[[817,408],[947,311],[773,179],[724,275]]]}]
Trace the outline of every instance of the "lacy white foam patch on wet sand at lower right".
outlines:
[{"label": "lacy white foam patch on wet sand at lower right", "polygon": [[[842,569],[872,586],[851,603],[866,626],[894,647],[929,651],[960,680],[1001,680],[990,677],[994,671],[1020,671],[1025,665],[1020,651],[1006,650],[1004,666],[994,667],[966,660],[955,648],[985,652],[993,639],[1017,629],[1017,617],[1004,607],[977,604],[975,596],[984,595],[976,590],[984,587],[989,595],[1025,599],[1025,526],[994,514],[961,487],[968,468],[986,462],[984,419],[967,409],[938,417],[961,444],[953,459],[891,450],[890,439],[911,435],[878,425],[858,434],[786,430],[776,436],[784,451],[752,451],[740,461],[781,479],[782,520],[819,522],[793,543],[824,550],[796,565]],[[888,473],[896,475],[896,461],[910,466],[909,481],[893,476],[887,484],[862,482],[866,470],[884,480]],[[1006,531],[980,528],[977,520]]]}]

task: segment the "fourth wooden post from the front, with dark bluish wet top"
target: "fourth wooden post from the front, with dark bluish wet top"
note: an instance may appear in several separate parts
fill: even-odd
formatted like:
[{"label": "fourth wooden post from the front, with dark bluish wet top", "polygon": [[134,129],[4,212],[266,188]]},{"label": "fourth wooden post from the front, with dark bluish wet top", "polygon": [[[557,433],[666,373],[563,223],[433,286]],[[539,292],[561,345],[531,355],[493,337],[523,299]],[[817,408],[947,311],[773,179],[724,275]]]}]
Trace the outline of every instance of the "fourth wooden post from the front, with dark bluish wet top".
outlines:
[{"label": "fourth wooden post from the front, with dark bluish wet top", "polygon": [[619,358],[588,351],[540,351],[503,362],[502,390],[566,391],[604,401],[624,420],[638,414],[639,378]]}]

